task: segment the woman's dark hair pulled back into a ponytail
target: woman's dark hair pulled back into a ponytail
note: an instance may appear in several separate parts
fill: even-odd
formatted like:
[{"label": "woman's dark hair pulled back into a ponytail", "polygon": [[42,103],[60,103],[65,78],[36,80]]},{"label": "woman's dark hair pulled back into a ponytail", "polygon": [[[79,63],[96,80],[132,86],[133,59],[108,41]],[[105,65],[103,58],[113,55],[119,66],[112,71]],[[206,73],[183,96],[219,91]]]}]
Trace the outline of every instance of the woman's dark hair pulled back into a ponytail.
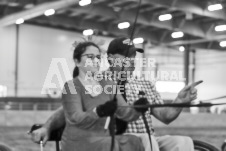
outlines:
[{"label": "woman's dark hair pulled back into a ponytail", "polygon": [[[93,42],[90,42],[90,41],[81,42],[74,49],[73,59],[77,59],[80,62],[82,54],[86,51],[86,48],[89,46],[94,46],[100,51],[99,46],[97,46],[97,44],[95,44]],[[73,71],[73,78],[77,77],[78,74],[79,74],[79,69],[76,66]]]}]

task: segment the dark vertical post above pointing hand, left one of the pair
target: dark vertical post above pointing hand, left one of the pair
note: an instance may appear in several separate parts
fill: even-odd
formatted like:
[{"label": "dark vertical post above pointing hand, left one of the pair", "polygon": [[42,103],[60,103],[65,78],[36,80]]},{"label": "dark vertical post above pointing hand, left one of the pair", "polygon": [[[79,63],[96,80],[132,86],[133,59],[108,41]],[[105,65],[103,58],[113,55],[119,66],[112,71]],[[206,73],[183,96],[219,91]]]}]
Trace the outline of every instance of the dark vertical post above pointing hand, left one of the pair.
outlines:
[{"label": "dark vertical post above pointing hand, left one of the pair", "polygon": [[189,82],[189,58],[190,58],[190,47],[184,51],[184,75],[185,75],[185,84]]}]

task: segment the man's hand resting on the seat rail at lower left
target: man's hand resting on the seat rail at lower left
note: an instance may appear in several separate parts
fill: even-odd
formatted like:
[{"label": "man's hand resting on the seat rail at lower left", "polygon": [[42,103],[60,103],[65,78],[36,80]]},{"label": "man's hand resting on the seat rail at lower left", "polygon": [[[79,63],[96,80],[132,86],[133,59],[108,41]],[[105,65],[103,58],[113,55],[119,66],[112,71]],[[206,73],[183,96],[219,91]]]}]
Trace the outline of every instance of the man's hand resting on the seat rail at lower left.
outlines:
[{"label": "man's hand resting on the seat rail at lower left", "polygon": [[49,139],[49,132],[46,127],[41,127],[33,132],[31,132],[31,139],[35,143],[40,143],[40,141],[43,141],[43,145],[46,144],[46,142]]}]

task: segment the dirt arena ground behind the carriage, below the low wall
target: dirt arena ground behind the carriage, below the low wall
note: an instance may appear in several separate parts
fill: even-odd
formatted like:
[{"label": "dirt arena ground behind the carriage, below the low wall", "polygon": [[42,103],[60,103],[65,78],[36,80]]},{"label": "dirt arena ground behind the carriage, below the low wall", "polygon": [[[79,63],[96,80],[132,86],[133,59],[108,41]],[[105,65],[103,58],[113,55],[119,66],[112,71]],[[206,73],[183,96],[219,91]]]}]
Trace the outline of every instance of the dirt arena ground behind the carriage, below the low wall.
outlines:
[{"label": "dirt arena ground behind the carriage, below the low wall", "polygon": [[[7,144],[15,151],[39,151],[39,145],[30,140],[26,134],[28,127],[0,127],[0,142]],[[187,135],[193,139],[203,140],[220,148],[226,139],[225,128],[156,128],[158,135]],[[44,151],[54,151],[55,144],[48,142]]]}]

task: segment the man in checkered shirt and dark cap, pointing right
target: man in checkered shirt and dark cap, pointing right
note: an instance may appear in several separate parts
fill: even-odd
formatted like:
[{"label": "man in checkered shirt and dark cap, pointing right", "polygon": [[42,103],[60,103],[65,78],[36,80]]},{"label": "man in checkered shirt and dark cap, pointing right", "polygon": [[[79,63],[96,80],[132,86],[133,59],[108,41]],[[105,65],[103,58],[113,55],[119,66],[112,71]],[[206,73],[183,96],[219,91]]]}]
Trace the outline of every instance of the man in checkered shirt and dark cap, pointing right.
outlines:
[{"label": "man in checkered shirt and dark cap, pointing right", "polygon": [[[127,53],[128,48],[127,38],[116,38],[111,41],[108,47],[108,57],[113,58],[109,59],[110,71],[120,72],[121,66],[114,66],[114,61],[116,59],[125,59],[125,57],[135,58],[136,52],[143,52],[142,49],[135,48],[133,45],[130,45],[129,52]],[[134,60],[130,60],[130,66],[125,67],[124,71],[134,71]],[[177,98],[173,103],[189,103],[197,97],[197,90],[194,88],[198,85],[199,82],[193,83],[186,86],[182,89]],[[143,92],[145,97],[148,99],[150,104],[164,104],[159,93],[156,91],[155,86],[150,81],[145,81],[141,79],[130,79],[127,78],[124,81],[125,93],[124,97],[128,104],[133,104],[134,101],[138,100],[141,96],[139,92]],[[147,111],[145,113],[149,129],[152,133],[152,144],[154,151],[194,151],[194,145],[191,138],[186,136],[160,136],[155,137],[151,115],[155,116],[158,120],[162,121],[165,124],[169,124],[175,120],[181,113],[182,108],[153,108],[152,111]],[[63,109],[59,108],[44,124],[44,126],[36,131],[32,132],[32,140],[34,142],[40,142],[42,139],[44,143],[49,138],[51,131],[62,127],[65,124],[65,117],[63,114]],[[145,129],[144,121],[140,117],[137,121],[130,122],[128,124],[126,134],[133,134],[142,139],[142,142],[145,147],[145,151],[151,151],[149,138]]]}]

